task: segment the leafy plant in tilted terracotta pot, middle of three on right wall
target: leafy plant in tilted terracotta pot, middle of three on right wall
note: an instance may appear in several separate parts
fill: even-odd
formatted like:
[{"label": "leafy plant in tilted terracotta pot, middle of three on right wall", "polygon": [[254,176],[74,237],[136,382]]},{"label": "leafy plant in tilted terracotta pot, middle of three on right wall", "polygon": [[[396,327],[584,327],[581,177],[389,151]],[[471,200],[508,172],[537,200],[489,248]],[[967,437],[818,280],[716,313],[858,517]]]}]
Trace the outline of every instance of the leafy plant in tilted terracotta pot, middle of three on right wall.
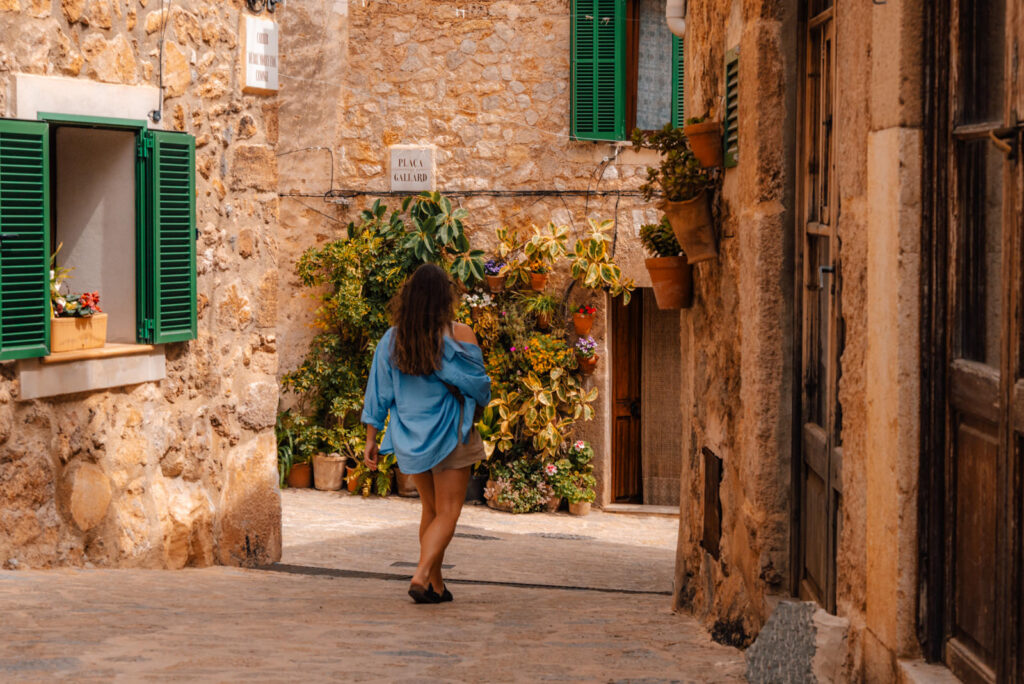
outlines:
[{"label": "leafy plant in tilted terracotta pot, middle of three on right wall", "polygon": [[633,131],[637,148],[654,149],[662,155],[658,168],[647,169],[647,181],[640,186],[646,200],[660,189],[665,199],[657,207],[672,224],[679,245],[689,263],[715,258],[715,229],[708,189],[712,177],[693,156],[686,136],[671,124],[659,131]]}]

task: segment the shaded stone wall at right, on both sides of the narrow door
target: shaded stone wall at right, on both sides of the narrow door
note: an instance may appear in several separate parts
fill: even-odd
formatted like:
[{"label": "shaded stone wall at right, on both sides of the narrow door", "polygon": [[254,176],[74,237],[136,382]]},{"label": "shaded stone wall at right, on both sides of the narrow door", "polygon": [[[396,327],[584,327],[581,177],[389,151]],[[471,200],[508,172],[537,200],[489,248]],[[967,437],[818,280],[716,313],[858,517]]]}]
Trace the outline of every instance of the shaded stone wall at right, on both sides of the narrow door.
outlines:
[{"label": "shaded stone wall at right, on both sides of the narrow door", "polygon": [[[682,316],[683,514],[677,604],[709,625],[764,625],[793,590],[795,133],[802,3],[690,0],[687,109],[721,118],[739,47],[739,165],[725,171],[722,254]],[[845,675],[895,681],[916,624],[922,3],[837,3],[836,173],[845,346],[838,613]],[[701,547],[700,450],[723,459],[721,554]]]}]

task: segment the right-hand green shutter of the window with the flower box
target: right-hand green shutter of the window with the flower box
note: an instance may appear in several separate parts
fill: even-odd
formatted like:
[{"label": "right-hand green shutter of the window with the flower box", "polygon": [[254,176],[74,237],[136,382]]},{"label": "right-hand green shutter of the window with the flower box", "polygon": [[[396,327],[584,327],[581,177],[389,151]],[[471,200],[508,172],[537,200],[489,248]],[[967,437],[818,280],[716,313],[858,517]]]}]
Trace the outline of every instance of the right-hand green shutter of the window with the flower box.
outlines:
[{"label": "right-hand green shutter of the window with the flower box", "polygon": [[196,322],[196,138],[150,131],[151,182],[148,291],[152,341],[197,337]]}]

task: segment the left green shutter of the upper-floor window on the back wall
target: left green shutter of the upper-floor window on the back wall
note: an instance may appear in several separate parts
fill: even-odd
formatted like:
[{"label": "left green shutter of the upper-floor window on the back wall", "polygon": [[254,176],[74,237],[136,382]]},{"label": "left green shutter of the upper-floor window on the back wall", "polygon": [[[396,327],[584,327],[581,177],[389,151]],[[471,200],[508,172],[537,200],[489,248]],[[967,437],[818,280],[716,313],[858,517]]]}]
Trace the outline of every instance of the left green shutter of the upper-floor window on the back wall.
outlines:
[{"label": "left green shutter of the upper-floor window on the back wall", "polygon": [[626,0],[572,0],[572,137],[626,139]]}]

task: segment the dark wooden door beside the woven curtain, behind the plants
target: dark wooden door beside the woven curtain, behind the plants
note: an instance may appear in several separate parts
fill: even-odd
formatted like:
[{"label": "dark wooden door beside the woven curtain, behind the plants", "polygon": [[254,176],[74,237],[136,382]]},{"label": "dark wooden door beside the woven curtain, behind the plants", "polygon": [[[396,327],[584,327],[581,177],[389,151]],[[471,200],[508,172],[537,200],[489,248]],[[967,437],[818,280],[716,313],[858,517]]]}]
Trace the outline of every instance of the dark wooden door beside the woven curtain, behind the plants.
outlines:
[{"label": "dark wooden door beside the woven curtain, behind the plants", "polygon": [[612,300],[611,308],[611,498],[643,503],[640,453],[640,381],[643,350],[643,293],[628,306]]}]

